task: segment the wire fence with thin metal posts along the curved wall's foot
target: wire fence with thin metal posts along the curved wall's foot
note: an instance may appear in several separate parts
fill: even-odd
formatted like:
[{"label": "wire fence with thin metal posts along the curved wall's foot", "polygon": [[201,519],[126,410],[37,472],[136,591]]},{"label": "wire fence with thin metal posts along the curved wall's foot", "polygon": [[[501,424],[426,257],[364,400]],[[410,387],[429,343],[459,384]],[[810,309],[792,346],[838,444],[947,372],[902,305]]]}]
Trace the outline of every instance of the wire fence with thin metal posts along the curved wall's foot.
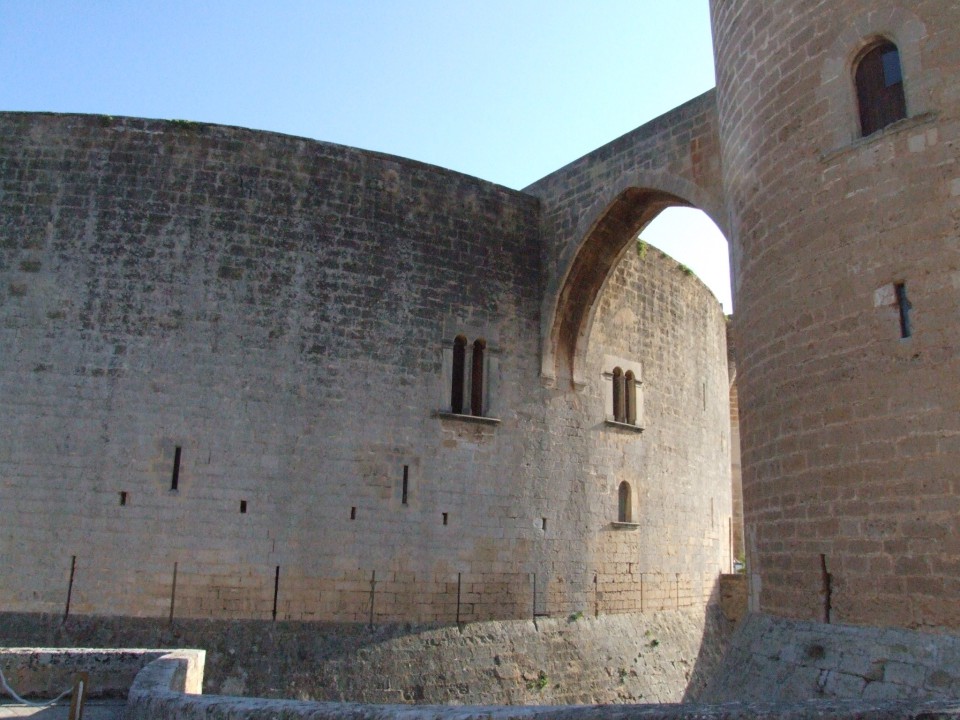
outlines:
[{"label": "wire fence with thin metal posts along the curved wall's foot", "polygon": [[[94,572],[92,569],[90,572]],[[83,563],[71,558],[64,619],[71,606],[90,612],[96,588],[83,591]],[[104,587],[102,571],[96,587]],[[220,568],[204,573],[172,563],[166,577],[143,578],[129,588],[118,614],[176,618],[464,623],[570,615],[610,615],[702,607],[717,574],[582,571],[456,573],[358,568],[335,577],[312,576],[279,565]],[[162,612],[157,612],[160,608]],[[94,610],[93,612],[102,612]]]}]

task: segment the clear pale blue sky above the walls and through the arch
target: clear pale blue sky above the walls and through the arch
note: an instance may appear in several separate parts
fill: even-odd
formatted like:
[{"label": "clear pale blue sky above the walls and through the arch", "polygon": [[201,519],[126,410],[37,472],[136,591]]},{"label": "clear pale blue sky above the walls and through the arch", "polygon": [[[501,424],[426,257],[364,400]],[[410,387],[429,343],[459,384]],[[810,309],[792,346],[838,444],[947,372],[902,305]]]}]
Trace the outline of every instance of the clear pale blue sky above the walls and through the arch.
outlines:
[{"label": "clear pale blue sky above the walls and through the arch", "polygon": [[[518,189],[713,84],[707,0],[0,0],[0,109],[241,125]],[[715,285],[726,247],[691,228],[664,249]]]}]

